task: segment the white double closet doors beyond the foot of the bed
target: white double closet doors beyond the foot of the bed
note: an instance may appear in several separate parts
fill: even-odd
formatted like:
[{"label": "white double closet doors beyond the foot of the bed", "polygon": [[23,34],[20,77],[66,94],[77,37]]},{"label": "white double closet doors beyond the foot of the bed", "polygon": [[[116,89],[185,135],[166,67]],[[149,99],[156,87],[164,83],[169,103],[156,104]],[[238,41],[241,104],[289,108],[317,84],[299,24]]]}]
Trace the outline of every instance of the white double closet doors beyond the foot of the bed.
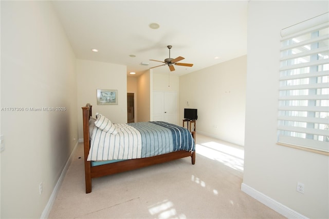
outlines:
[{"label": "white double closet doors beyond the foot of the bed", "polygon": [[165,121],[177,125],[176,92],[153,92],[153,121]]}]

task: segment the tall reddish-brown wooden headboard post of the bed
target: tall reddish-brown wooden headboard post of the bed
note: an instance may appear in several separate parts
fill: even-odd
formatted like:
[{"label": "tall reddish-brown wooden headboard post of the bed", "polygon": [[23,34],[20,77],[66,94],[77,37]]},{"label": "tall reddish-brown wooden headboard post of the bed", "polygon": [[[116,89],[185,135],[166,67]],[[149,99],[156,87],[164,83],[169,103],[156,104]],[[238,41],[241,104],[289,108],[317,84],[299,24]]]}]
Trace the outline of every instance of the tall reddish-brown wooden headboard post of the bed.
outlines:
[{"label": "tall reddish-brown wooden headboard post of the bed", "polygon": [[87,104],[86,107],[82,107],[82,116],[83,116],[83,150],[84,150],[84,172],[85,172],[85,181],[86,181],[86,193],[92,192],[92,176],[90,174],[91,162],[87,161],[90,141],[89,141],[89,117],[91,112],[90,104]]}]

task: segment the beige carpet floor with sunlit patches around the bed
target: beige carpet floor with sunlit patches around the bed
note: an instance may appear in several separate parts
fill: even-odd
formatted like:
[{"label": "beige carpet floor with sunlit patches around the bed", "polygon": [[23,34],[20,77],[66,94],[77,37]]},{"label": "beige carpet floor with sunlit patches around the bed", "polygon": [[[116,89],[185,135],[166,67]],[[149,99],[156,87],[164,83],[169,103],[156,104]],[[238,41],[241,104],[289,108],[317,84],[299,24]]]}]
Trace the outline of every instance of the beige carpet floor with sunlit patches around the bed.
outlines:
[{"label": "beige carpet floor with sunlit patches around the bed", "polygon": [[241,191],[242,147],[200,134],[196,143],[195,165],[183,158],[95,178],[89,194],[79,144],[49,218],[284,218]]}]

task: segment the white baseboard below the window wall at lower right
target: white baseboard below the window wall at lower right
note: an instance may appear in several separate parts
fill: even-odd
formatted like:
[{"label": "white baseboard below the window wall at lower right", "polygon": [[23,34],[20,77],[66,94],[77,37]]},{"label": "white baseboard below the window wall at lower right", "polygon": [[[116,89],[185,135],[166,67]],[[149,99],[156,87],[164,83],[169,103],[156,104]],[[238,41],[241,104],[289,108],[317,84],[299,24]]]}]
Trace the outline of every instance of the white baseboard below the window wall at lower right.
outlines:
[{"label": "white baseboard below the window wall at lower right", "polygon": [[288,208],[285,205],[282,205],[281,203],[273,200],[272,198],[268,197],[267,195],[251,188],[250,186],[242,183],[241,184],[241,190],[251,197],[255,198],[255,200],[263,203],[267,207],[275,210],[276,212],[282,214],[283,216],[287,218],[303,218],[308,219],[306,216],[294,211],[293,209]]}]

